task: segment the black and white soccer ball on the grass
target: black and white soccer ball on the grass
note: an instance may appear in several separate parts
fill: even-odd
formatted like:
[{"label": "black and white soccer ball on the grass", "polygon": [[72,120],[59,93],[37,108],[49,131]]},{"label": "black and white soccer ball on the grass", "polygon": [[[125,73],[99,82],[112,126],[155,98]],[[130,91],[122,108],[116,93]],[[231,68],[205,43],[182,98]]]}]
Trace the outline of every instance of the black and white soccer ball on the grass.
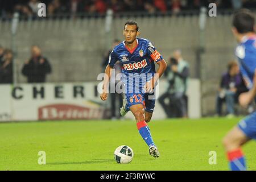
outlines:
[{"label": "black and white soccer ball on the grass", "polygon": [[119,146],[115,149],[114,159],[117,163],[127,164],[133,160],[133,150],[129,146]]}]

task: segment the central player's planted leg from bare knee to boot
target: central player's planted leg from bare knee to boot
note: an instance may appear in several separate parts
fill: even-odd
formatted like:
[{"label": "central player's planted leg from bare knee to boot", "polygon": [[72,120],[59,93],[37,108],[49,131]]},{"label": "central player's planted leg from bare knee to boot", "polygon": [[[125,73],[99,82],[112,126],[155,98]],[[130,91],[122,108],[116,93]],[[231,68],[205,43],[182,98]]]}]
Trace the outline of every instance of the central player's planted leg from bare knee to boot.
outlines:
[{"label": "central player's planted leg from bare knee to boot", "polygon": [[158,148],[155,146],[155,143],[152,140],[150,129],[145,121],[144,106],[142,104],[133,105],[130,107],[130,110],[136,119],[139,134],[141,134],[148,147],[150,147],[150,155],[152,155],[154,158],[158,158],[160,154]]}]

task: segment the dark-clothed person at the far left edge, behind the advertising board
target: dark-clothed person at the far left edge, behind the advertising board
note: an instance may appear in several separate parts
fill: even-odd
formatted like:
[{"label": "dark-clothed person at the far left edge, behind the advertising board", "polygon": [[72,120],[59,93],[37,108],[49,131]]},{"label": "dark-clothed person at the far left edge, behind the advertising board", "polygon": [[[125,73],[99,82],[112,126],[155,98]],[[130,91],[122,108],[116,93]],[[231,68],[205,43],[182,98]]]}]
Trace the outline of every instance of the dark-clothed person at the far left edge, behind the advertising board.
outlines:
[{"label": "dark-clothed person at the far left edge, behind the advertising board", "polygon": [[13,83],[13,52],[5,50],[3,61],[0,63],[0,84]]}]

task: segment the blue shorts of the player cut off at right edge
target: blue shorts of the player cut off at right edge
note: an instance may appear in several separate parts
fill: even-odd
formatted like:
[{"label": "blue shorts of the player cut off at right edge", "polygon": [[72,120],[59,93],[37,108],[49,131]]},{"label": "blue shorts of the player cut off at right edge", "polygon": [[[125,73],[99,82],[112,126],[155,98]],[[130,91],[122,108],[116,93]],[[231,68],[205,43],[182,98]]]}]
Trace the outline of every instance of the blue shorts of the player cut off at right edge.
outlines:
[{"label": "blue shorts of the player cut off at right edge", "polygon": [[242,119],[238,123],[238,127],[243,131],[246,137],[256,140],[256,111]]}]

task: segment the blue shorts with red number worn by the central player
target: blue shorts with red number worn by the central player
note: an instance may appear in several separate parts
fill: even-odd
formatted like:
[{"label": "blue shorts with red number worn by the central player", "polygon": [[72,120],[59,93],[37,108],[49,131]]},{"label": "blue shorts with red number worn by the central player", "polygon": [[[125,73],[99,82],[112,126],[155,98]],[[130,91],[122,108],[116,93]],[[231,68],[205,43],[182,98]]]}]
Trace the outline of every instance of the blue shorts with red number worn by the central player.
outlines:
[{"label": "blue shorts with red number worn by the central player", "polygon": [[144,110],[148,113],[153,113],[155,108],[155,96],[150,93],[126,93],[127,106],[126,110],[130,110],[130,107],[137,104],[142,104]]}]

